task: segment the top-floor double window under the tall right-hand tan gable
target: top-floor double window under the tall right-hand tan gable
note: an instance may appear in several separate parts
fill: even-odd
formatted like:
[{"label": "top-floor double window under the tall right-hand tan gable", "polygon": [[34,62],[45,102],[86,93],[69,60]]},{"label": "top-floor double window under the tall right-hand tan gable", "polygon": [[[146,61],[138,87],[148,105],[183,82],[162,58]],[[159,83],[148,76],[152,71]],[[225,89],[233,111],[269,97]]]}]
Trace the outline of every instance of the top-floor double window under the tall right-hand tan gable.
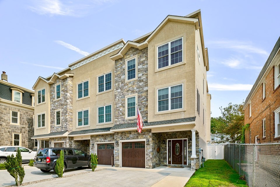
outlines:
[{"label": "top-floor double window under the tall right-hand tan gable", "polygon": [[157,47],[157,69],[183,61],[183,38]]}]

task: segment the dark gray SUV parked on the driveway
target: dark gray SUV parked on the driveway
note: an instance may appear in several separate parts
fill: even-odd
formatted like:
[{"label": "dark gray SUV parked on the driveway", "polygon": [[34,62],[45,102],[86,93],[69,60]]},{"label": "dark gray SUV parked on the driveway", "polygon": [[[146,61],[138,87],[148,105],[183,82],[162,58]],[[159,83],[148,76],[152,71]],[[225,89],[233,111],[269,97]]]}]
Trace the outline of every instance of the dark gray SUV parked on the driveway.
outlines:
[{"label": "dark gray SUV parked on the driveway", "polygon": [[41,169],[42,172],[55,171],[57,158],[60,151],[64,152],[64,170],[73,167],[88,166],[91,168],[90,155],[81,149],[75,148],[41,148],[37,151],[34,166]]}]

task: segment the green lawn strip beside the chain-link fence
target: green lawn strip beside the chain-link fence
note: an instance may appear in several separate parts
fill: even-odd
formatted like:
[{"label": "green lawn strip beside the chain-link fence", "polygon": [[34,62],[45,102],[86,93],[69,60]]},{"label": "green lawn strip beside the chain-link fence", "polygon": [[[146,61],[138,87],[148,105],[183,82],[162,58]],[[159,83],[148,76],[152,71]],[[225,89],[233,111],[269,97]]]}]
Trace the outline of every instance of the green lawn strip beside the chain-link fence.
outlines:
[{"label": "green lawn strip beside the chain-link fence", "polygon": [[225,160],[207,160],[204,168],[198,169],[186,183],[185,187],[246,187],[246,181],[239,179]]}]

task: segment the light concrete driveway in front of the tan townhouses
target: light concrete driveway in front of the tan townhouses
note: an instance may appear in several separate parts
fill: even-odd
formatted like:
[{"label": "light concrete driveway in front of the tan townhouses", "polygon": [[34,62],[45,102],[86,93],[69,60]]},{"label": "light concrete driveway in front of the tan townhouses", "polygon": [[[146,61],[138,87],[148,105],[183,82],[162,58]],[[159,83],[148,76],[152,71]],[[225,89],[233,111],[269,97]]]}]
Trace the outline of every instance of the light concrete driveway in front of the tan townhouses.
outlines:
[{"label": "light concrete driveway in front of the tan townhouses", "polygon": [[[78,174],[91,171],[91,169],[74,168],[67,169],[63,176],[78,174],[65,178],[56,178],[55,180],[34,183],[27,186],[184,186],[190,179],[193,171],[190,168],[168,168],[157,167],[154,169],[128,168],[128,167],[108,167],[97,166],[97,169],[104,169],[97,172]],[[13,177],[6,170],[0,170],[0,184],[8,186],[15,184]],[[25,177],[23,183],[38,181],[42,179],[55,178],[57,175],[51,171],[43,173],[37,168],[25,168]]]}]

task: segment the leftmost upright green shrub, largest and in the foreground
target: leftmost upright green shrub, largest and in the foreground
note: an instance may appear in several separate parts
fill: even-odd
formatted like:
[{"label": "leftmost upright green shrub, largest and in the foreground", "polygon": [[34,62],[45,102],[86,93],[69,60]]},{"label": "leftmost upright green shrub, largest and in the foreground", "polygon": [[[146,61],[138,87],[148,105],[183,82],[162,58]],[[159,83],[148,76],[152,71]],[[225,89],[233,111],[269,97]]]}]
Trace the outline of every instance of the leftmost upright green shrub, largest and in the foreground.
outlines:
[{"label": "leftmost upright green shrub, largest and in the foreground", "polygon": [[17,149],[17,154],[8,155],[7,162],[5,163],[5,167],[10,175],[15,178],[15,185],[20,186],[22,184],[25,172],[22,167],[22,156],[20,154],[20,150]]}]

